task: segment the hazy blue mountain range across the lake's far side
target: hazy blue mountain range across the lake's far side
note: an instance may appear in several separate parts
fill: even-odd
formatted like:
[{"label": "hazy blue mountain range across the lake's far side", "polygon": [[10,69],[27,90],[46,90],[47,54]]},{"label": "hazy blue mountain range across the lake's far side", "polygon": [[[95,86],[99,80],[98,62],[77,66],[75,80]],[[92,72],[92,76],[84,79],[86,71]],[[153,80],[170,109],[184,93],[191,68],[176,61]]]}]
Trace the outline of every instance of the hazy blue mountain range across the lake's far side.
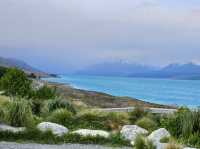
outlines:
[{"label": "hazy blue mountain range across the lake's far side", "polygon": [[165,67],[108,62],[76,72],[79,75],[128,76],[145,78],[200,79],[200,65],[194,63],[169,64]]}]

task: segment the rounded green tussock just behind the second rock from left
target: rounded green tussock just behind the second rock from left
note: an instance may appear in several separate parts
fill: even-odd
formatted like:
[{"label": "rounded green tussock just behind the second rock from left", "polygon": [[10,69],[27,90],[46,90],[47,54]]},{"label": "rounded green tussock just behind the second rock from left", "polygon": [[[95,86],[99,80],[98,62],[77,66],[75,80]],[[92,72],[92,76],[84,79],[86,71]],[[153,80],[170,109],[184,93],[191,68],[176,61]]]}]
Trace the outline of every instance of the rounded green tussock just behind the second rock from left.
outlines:
[{"label": "rounded green tussock just behind the second rock from left", "polygon": [[57,109],[51,113],[47,120],[70,127],[73,124],[73,114],[66,109]]}]

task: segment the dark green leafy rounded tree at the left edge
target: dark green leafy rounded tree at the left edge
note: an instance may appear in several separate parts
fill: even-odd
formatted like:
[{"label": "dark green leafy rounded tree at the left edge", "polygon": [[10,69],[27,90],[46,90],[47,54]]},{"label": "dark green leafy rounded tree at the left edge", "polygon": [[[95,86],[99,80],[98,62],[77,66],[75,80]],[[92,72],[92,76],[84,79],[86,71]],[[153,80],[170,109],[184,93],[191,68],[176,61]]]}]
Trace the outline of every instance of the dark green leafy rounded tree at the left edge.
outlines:
[{"label": "dark green leafy rounded tree at the left edge", "polygon": [[6,94],[11,97],[26,97],[31,91],[31,80],[17,68],[9,68],[1,78],[0,84]]}]

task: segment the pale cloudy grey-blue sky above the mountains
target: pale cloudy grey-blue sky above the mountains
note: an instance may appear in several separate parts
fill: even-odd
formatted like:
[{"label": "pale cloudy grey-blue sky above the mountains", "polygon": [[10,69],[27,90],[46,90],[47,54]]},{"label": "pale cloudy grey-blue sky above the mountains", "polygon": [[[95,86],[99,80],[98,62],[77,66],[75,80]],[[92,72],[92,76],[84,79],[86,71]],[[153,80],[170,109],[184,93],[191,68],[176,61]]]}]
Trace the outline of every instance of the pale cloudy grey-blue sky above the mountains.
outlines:
[{"label": "pale cloudy grey-blue sky above the mountains", "polygon": [[67,73],[200,63],[199,0],[0,0],[0,56]]}]

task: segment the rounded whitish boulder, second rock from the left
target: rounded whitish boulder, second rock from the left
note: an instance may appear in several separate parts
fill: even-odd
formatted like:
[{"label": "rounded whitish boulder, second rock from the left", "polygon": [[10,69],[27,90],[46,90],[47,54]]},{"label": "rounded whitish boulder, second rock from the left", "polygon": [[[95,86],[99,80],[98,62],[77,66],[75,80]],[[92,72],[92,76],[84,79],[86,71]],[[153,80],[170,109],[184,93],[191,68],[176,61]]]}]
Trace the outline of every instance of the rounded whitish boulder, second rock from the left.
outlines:
[{"label": "rounded whitish boulder, second rock from the left", "polygon": [[51,122],[42,122],[37,125],[37,128],[42,132],[50,130],[54,135],[57,136],[62,136],[69,132],[69,130],[66,127]]}]

